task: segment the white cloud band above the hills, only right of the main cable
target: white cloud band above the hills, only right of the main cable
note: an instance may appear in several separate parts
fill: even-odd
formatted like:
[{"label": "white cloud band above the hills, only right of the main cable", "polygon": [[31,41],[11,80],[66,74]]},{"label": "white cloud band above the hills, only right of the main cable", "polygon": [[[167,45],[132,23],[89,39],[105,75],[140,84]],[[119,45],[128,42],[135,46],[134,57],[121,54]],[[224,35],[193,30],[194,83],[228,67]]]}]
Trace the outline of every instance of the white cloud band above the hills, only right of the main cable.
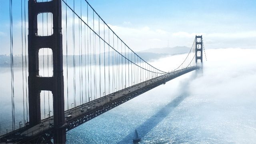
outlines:
[{"label": "white cloud band above the hills, only right of the main cable", "polygon": [[[202,35],[206,48],[253,48],[256,31],[233,33],[196,33],[196,32],[170,32],[153,29],[149,26],[131,28],[128,26],[110,26],[135,51],[148,48],[169,46],[192,46],[194,37]],[[237,39],[243,39],[241,41]],[[254,44],[255,45],[255,44]]]}]

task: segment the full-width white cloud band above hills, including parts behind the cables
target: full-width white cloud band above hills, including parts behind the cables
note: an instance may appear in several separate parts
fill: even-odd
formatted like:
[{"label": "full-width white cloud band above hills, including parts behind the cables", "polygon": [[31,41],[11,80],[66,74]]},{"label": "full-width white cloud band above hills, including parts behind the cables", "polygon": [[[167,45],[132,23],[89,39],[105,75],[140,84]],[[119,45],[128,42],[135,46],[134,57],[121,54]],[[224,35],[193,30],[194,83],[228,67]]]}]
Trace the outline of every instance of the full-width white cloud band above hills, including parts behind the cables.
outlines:
[{"label": "full-width white cloud band above hills, including parts behind the cables", "polygon": [[[45,14],[46,16],[46,14]],[[75,16],[76,17],[76,16]],[[50,21],[50,16],[48,16],[48,21]],[[82,16],[82,19],[87,22],[87,17]],[[44,20],[46,22],[46,18]],[[68,27],[68,46],[72,47],[72,14],[70,12],[67,13],[67,27]],[[78,23],[79,20],[76,17],[75,19],[75,33],[76,33],[76,44],[78,44]],[[94,23],[94,30],[98,33],[98,19],[95,18],[94,21],[89,16],[88,25],[93,28]],[[23,23],[24,24],[24,23]],[[28,22],[26,22],[28,28]],[[112,30],[121,38],[132,50],[134,51],[141,51],[148,48],[163,48],[169,45],[170,47],[174,46],[188,46],[191,47],[193,44],[193,40],[195,35],[203,35],[204,45],[205,48],[255,48],[255,41],[256,41],[256,31],[241,31],[241,32],[185,32],[185,31],[175,31],[175,30],[165,30],[164,28],[154,28],[151,26],[132,26],[130,22],[123,22],[123,25],[113,25],[108,24]],[[46,23],[44,25],[45,30],[44,34],[46,34]],[[48,24],[49,32],[50,32],[50,24]],[[20,54],[20,43],[21,43],[21,21],[14,22],[14,53]],[[82,34],[84,34],[84,24],[82,22]],[[100,36],[104,38],[104,24],[100,22]],[[87,27],[86,27],[87,30]],[[108,28],[105,26],[105,33],[106,38],[108,37]],[[27,32],[28,34],[28,32]],[[38,22],[38,34],[42,35],[42,22]],[[63,42],[66,40],[66,17],[62,16],[62,34],[63,34]],[[4,32],[1,31],[1,36],[4,35]],[[86,35],[87,36],[87,35]],[[110,31],[110,36],[113,36]],[[84,39],[84,36],[82,36]],[[4,40],[5,39],[5,40]],[[8,37],[1,40],[2,46],[9,47],[9,40]],[[108,39],[108,38],[107,38]],[[108,41],[108,40],[107,40]],[[110,44],[112,41],[110,41]],[[66,46],[64,44],[63,46]],[[71,48],[72,49],[72,48]],[[72,50],[70,49],[70,54]],[[5,50],[2,53],[8,54],[9,51]]]}]

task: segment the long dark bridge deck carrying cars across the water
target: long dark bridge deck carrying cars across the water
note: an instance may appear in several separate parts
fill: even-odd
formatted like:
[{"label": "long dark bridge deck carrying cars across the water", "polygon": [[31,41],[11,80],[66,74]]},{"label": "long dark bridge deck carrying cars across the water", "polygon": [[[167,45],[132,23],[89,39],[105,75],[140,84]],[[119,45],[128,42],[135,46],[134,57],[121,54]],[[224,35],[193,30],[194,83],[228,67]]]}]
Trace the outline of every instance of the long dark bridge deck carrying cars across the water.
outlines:
[{"label": "long dark bridge deck carrying cars across the water", "polygon": [[[184,68],[174,72],[152,78],[145,82],[141,82],[134,86],[130,86],[123,90],[119,90],[112,94],[106,95],[104,97],[92,100],[88,103],[76,106],[70,110],[65,111],[65,125],[61,126],[66,128],[66,131],[71,130],[100,114],[115,108],[116,106],[144,93],[152,88],[155,88],[161,84],[165,84],[169,80],[177,78],[183,74],[191,72],[198,69],[196,66]],[[66,116],[71,115],[72,118],[67,118]],[[12,142],[12,143],[24,143],[28,140],[38,138],[38,136],[47,138],[52,138],[51,131],[53,130],[53,116],[42,120],[42,122],[33,127],[23,127],[13,132],[9,132],[0,136],[0,142]],[[50,139],[49,139],[50,140]]]}]

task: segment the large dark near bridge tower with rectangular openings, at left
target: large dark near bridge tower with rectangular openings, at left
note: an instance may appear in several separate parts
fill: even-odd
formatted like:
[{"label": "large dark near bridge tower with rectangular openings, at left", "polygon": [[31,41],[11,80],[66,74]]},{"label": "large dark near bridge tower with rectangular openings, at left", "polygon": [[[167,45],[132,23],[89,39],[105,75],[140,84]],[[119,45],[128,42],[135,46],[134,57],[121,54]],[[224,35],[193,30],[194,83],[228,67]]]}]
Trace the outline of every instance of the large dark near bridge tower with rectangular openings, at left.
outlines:
[{"label": "large dark near bridge tower with rectangular openings, at left", "polygon": [[[37,15],[52,13],[53,34],[38,36]],[[62,54],[61,0],[36,2],[28,0],[28,99],[30,126],[40,123],[40,92],[49,90],[53,96],[54,143],[66,142],[64,125],[64,78]],[[50,48],[53,58],[53,76],[40,77],[38,68],[38,51]]]}]

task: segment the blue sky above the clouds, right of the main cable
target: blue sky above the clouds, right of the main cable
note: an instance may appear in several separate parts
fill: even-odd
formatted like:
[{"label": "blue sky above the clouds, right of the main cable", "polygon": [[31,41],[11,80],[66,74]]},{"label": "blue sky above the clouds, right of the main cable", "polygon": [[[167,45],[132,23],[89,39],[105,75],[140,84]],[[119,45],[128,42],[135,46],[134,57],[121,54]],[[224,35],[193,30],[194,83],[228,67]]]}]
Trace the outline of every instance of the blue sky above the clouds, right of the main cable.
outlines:
[{"label": "blue sky above the clouds, right of the main cable", "polygon": [[[94,0],[94,9],[109,23],[153,26],[187,32],[255,30],[255,0]],[[209,28],[212,27],[212,28]]]}]

